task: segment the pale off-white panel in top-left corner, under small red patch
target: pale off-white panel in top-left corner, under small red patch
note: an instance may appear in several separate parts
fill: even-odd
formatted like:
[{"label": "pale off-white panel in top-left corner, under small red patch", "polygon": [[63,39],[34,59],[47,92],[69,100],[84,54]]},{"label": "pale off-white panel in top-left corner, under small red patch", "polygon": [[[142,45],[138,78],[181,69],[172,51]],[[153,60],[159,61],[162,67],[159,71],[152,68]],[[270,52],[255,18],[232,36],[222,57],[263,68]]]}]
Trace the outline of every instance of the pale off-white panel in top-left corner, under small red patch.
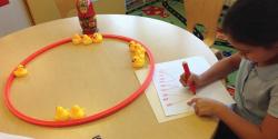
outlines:
[{"label": "pale off-white panel in top-left corner, under small red patch", "polygon": [[23,0],[0,7],[0,37],[31,26]]}]

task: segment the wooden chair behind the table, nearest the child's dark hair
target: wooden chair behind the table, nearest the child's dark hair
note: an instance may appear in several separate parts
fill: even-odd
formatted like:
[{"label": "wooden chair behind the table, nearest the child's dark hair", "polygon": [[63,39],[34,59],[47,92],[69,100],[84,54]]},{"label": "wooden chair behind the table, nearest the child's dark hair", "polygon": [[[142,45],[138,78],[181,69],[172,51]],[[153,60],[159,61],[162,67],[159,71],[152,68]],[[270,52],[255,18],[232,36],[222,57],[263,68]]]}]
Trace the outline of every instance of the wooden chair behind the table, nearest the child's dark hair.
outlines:
[{"label": "wooden chair behind the table, nearest the child's dark hair", "polygon": [[203,42],[211,47],[215,42],[218,19],[224,0],[183,0],[187,18],[187,30],[193,32],[195,26],[205,27]]}]

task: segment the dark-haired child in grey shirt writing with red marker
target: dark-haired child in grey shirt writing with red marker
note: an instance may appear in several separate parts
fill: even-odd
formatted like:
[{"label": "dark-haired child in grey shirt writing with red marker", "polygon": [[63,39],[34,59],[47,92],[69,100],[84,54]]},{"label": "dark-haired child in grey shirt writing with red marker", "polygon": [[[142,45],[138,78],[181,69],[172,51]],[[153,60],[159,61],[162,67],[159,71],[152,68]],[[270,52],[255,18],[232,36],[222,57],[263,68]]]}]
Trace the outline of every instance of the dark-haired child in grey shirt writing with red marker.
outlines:
[{"label": "dark-haired child in grey shirt writing with red marker", "polygon": [[220,119],[216,139],[278,139],[278,1],[237,0],[224,21],[224,32],[238,50],[200,76],[181,83],[197,88],[225,78],[239,68],[236,105],[195,98],[197,116]]}]

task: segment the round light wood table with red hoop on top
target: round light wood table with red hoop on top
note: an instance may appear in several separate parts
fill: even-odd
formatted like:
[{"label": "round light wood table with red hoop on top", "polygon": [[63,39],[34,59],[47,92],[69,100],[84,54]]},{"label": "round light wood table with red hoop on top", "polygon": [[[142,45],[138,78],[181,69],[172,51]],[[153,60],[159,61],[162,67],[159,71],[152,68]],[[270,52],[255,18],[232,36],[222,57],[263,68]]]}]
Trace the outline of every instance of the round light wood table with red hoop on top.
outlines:
[{"label": "round light wood table with red hoop on top", "polygon": [[[190,32],[170,23],[125,14],[99,14],[101,33],[133,38],[151,50],[156,62],[192,56],[217,61],[210,49]],[[42,47],[81,33],[78,19],[68,18],[30,27],[0,38],[1,90],[11,70]],[[53,117],[54,108],[79,105],[88,113],[111,107],[140,85],[130,63],[127,43],[106,40],[101,44],[63,44],[28,64],[29,75],[14,80],[13,105],[36,118]],[[158,123],[145,95],[122,110],[95,122],[46,128],[24,122],[6,108],[0,98],[0,130],[38,139],[210,139],[217,120],[195,115]]]}]

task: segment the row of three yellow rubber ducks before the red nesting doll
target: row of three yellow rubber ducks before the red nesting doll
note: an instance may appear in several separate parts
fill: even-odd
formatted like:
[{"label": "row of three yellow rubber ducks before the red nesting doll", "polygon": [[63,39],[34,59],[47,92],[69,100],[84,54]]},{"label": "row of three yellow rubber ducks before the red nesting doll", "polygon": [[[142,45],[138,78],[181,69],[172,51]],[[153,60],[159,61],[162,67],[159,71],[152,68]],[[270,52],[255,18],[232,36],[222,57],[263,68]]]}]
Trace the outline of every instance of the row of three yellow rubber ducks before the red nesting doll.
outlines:
[{"label": "row of three yellow rubber ducks before the red nesting doll", "polygon": [[93,34],[78,34],[76,33],[72,38],[71,41],[73,44],[80,44],[83,43],[86,46],[91,44],[91,43],[100,43],[102,42],[103,37],[101,33],[93,33]]}]

